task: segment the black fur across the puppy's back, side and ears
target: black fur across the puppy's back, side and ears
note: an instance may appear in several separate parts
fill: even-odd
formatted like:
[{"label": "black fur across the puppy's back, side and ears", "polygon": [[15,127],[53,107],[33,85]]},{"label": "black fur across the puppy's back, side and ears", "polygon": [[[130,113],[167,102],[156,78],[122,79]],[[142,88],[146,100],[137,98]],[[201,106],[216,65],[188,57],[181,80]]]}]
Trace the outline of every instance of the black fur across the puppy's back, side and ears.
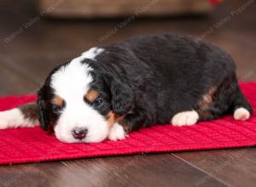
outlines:
[{"label": "black fur across the puppy's back, side and ears", "polygon": [[[201,120],[230,114],[239,107],[252,113],[238,86],[230,54],[209,42],[166,33],[132,37],[101,48],[104,51],[96,61],[83,61],[93,68],[91,87],[104,100],[96,110],[102,115],[114,111],[124,116],[122,122],[130,130],[169,123],[181,111],[195,110]],[[48,81],[38,92],[45,105],[52,93]],[[211,104],[202,109],[203,95],[214,87]],[[45,110],[49,117],[50,106]]]}]

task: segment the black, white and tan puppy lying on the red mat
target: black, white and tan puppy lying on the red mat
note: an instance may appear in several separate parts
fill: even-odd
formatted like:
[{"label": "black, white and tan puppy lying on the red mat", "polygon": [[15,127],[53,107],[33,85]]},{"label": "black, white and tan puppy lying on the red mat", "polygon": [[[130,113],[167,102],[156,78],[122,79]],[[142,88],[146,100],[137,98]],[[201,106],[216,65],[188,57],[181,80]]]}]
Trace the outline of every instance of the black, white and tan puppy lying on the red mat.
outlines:
[{"label": "black, white and tan puppy lying on the red mat", "polygon": [[90,48],[55,67],[38,101],[0,113],[0,128],[51,128],[62,142],[125,139],[142,127],[191,126],[252,107],[229,54],[195,37],[165,33]]}]

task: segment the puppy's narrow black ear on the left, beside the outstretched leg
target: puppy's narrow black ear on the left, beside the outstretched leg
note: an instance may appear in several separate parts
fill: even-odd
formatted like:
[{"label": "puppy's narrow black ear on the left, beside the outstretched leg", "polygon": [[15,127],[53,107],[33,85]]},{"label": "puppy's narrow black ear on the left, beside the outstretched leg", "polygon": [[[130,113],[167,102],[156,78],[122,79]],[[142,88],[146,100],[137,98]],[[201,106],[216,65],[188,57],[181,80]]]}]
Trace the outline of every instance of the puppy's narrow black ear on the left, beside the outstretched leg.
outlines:
[{"label": "puppy's narrow black ear on the left, beside the outstretched leg", "polygon": [[46,107],[42,96],[38,93],[38,120],[40,122],[41,127],[47,131],[49,128],[48,117],[46,114]]}]

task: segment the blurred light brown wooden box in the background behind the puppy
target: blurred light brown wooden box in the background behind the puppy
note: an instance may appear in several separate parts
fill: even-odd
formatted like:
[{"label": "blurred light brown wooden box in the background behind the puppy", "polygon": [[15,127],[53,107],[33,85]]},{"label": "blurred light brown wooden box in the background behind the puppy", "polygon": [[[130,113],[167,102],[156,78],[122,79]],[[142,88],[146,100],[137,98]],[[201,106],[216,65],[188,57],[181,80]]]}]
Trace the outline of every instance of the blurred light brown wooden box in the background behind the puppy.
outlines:
[{"label": "blurred light brown wooden box in the background behind the puppy", "polygon": [[[107,4],[109,5],[107,5]],[[107,5],[107,6],[106,6]],[[50,7],[54,7],[49,11]],[[64,18],[99,18],[116,16],[201,14],[208,13],[212,4],[204,0],[40,0],[40,12]]]}]

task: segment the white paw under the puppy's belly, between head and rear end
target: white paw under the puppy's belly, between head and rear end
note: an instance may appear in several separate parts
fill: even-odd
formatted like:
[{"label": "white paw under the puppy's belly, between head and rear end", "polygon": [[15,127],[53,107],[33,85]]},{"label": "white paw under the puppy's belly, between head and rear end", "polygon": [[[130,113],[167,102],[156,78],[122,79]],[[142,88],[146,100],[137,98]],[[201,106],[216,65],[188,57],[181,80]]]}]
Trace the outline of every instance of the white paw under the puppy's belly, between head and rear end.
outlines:
[{"label": "white paw under the puppy's belly, between head and rear end", "polygon": [[177,127],[191,126],[198,122],[199,115],[196,111],[183,111],[172,117],[172,125]]}]

